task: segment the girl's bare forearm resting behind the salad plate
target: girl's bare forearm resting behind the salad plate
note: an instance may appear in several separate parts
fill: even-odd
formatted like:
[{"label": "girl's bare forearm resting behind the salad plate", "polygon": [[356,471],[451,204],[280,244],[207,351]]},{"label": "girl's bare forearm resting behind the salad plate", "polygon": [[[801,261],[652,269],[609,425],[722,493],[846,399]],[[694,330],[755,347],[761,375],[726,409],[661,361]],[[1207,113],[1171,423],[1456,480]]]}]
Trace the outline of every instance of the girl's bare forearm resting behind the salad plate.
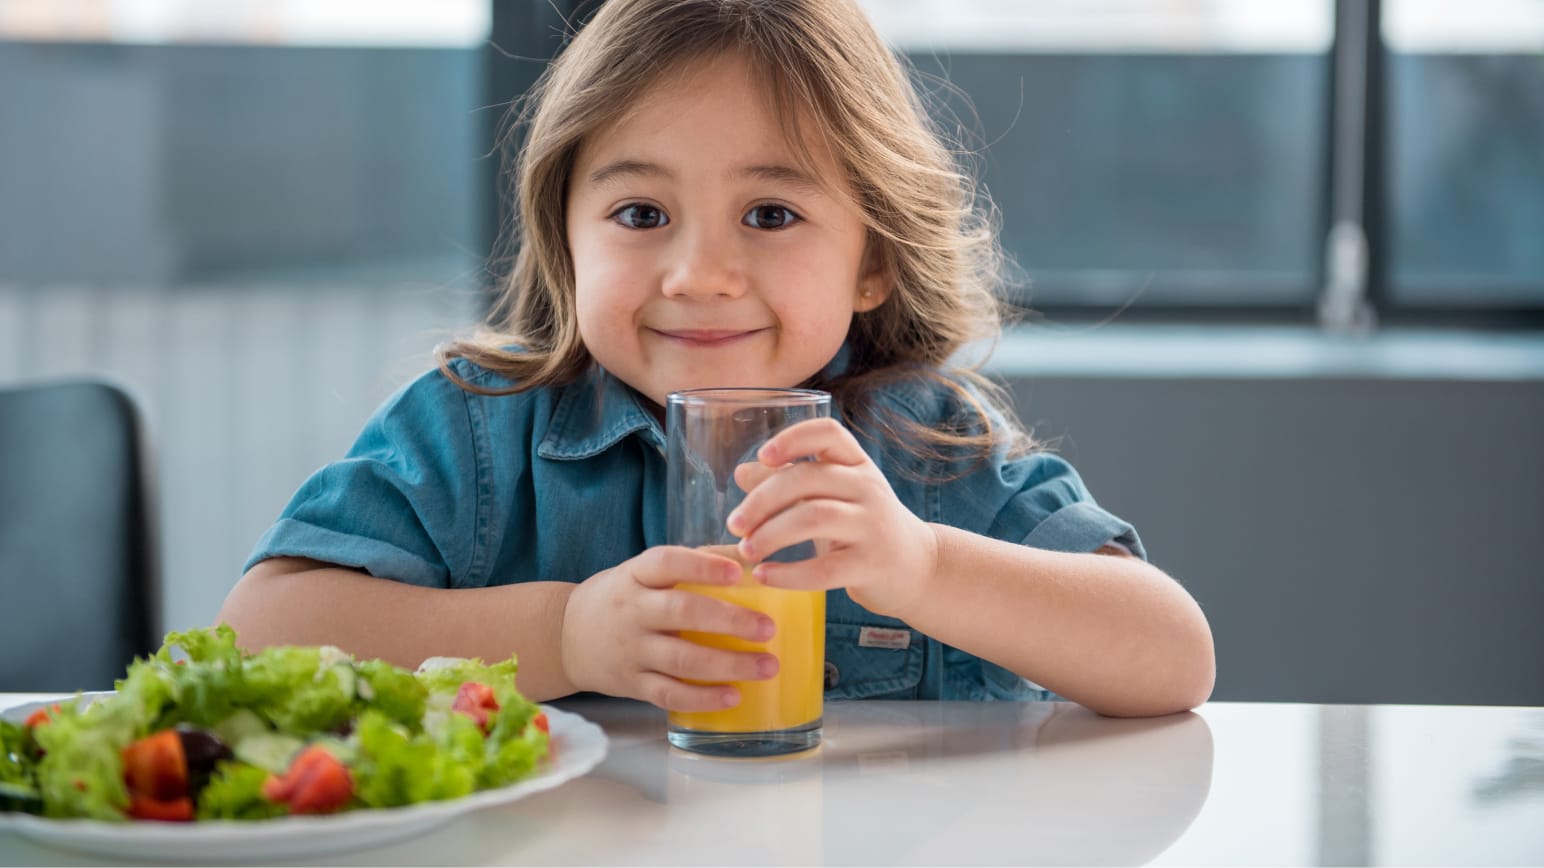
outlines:
[{"label": "girl's bare forearm resting behind the salad plate", "polygon": [[491,588],[425,588],[354,570],[275,558],[253,567],[225,598],[219,621],[241,646],[330,644],[357,658],[408,669],[429,656],[519,655],[520,692],[550,700],[574,692],[562,667],[567,582]]}]

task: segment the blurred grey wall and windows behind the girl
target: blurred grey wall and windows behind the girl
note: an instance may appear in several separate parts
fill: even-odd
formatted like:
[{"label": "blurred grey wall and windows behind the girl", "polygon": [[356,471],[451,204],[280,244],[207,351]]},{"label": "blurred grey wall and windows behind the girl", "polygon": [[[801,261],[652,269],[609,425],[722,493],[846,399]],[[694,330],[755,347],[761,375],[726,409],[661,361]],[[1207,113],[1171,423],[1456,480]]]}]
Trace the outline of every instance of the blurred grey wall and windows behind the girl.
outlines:
[{"label": "blurred grey wall and windows behind the girl", "polygon": [[[988,368],[1215,697],[1544,704],[1544,0],[865,6],[1002,212]],[[164,629],[482,315],[503,111],[593,9],[0,0],[0,386],[131,391]]]}]

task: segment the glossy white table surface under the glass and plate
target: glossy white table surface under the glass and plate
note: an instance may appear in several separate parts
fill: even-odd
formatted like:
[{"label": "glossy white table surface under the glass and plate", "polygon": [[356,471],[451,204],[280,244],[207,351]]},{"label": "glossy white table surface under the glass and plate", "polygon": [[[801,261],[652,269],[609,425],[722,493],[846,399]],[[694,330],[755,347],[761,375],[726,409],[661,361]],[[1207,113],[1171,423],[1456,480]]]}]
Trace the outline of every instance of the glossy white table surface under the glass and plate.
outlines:
[{"label": "glossy white table surface under the glass and plate", "polygon": [[[0,693],[0,707],[39,697]],[[713,760],[656,709],[588,775],[323,865],[1539,865],[1544,709],[829,703],[824,743]],[[0,865],[97,859],[0,832]]]}]

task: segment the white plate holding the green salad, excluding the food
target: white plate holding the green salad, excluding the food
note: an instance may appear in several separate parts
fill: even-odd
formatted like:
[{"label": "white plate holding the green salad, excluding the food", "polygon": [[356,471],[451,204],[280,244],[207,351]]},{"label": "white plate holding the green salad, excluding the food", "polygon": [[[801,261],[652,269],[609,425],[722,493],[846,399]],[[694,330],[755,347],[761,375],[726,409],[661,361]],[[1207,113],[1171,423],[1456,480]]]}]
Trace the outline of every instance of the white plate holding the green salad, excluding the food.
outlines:
[{"label": "white plate holding the green salad, excluding the food", "polygon": [[[45,704],[48,703],[28,703],[0,714],[6,720],[23,720]],[[519,783],[462,798],[330,815],[198,823],[105,823],[0,812],[0,832],[15,832],[91,856],[150,862],[269,862],[380,846],[426,832],[469,811],[506,805],[551,789],[588,772],[605,757],[607,740],[599,726],[573,712],[548,706],[542,706],[542,710],[547,712],[553,737],[545,768]]]}]

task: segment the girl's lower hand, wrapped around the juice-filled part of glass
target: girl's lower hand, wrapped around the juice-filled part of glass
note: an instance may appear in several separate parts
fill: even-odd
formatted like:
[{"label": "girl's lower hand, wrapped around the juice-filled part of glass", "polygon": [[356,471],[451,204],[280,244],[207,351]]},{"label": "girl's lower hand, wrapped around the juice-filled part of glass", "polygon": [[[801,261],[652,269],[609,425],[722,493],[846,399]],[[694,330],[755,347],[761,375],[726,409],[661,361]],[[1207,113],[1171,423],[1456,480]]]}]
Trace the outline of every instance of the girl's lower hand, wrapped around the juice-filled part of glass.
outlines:
[{"label": "girl's lower hand, wrapped around the juice-filled part of glass", "polygon": [[590,576],[574,587],[564,610],[562,663],[568,681],[576,690],[644,700],[665,710],[735,706],[740,690],[724,683],[770,678],[777,658],[710,649],[678,632],[764,643],[777,627],[760,612],[675,585],[732,585],[741,570],[732,558],[661,545]]}]

